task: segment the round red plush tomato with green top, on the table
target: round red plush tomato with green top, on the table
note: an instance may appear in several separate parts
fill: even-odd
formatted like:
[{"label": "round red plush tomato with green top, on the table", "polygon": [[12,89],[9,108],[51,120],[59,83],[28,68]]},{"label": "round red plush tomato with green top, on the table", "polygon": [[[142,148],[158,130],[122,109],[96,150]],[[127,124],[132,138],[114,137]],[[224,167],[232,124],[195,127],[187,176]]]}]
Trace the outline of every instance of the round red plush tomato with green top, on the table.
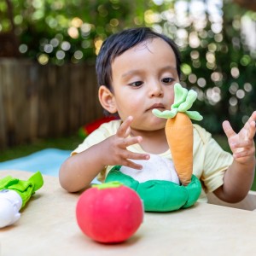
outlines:
[{"label": "round red plush tomato with green top, on the table", "polygon": [[143,222],[143,202],[122,183],[102,183],[79,197],[76,217],[86,236],[103,243],[127,240]]}]

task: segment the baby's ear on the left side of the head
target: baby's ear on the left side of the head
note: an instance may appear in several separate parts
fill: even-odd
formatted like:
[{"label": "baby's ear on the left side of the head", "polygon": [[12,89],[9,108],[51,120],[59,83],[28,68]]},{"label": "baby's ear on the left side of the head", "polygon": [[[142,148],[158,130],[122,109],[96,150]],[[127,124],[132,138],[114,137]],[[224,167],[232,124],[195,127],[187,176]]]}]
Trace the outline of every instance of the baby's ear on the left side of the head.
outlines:
[{"label": "baby's ear on the left side of the head", "polygon": [[109,113],[117,112],[113,93],[105,85],[100,86],[98,96],[104,109]]}]

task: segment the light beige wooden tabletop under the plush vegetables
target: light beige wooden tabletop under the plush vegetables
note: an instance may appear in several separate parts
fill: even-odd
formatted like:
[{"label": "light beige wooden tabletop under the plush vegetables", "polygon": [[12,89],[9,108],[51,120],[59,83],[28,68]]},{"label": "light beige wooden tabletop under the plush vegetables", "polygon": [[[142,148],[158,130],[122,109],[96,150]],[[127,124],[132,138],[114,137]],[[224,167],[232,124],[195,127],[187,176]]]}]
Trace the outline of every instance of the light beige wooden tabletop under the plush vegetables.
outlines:
[{"label": "light beige wooden tabletop under the plush vegetables", "polygon": [[[32,172],[0,171],[26,180]],[[1,256],[255,255],[256,212],[196,203],[177,212],[146,213],[128,241],[104,245],[84,236],[75,218],[78,194],[44,176],[21,217],[0,230]]]}]

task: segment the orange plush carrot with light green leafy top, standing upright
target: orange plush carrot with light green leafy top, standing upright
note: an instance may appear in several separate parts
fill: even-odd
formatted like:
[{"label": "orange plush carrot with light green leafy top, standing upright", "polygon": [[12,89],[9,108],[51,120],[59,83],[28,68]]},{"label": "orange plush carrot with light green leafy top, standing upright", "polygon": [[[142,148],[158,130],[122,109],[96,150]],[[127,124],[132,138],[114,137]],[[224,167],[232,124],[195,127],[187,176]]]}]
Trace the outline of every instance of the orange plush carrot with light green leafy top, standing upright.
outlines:
[{"label": "orange plush carrot with light green leafy top, standing upright", "polygon": [[188,111],[196,97],[195,90],[187,90],[181,84],[174,84],[174,103],[171,110],[160,112],[153,109],[154,115],[167,119],[166,139],[177,176],[183,185],[190,183],[193,173],[193,125],[190,119],[202,119],[200,113]]}]

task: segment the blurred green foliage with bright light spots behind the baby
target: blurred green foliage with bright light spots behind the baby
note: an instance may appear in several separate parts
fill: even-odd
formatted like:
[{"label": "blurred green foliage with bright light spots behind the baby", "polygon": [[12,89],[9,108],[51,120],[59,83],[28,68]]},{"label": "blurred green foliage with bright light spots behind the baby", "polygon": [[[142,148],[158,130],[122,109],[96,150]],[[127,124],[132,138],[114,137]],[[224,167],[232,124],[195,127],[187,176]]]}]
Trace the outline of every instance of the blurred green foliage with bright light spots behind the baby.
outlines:
[{"label": "blurred green foliage with bright light spots behind the baby", "polygon": [[221,133],[224,119],[238,131],[256,109],[256,13],[230,0],[0,0],[0,15],[0,32],[12,19],[20,53],[42,65],[94,62],[113,32],[153,27],[181,50],[182,82],[198,92],[208,131]]}]

